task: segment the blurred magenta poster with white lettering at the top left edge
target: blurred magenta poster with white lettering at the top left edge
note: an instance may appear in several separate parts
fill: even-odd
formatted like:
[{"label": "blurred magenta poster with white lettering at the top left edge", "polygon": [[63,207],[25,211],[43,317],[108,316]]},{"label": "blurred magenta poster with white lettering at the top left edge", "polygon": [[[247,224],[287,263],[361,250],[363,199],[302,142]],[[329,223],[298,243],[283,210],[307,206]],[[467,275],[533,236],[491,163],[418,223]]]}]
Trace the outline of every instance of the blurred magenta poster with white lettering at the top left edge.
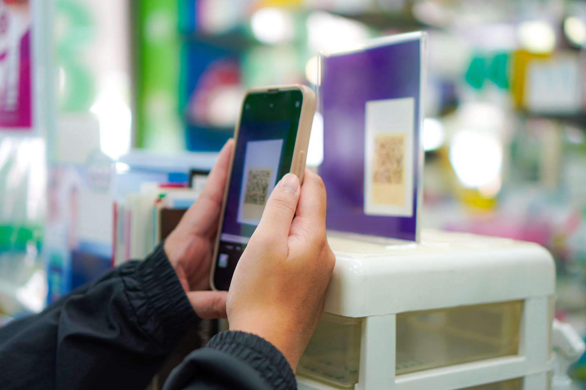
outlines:
[{"label": "blurred magenta poster with white lettering at the top left edge", "polygon": [[0,1],[0,131],[32,131],[30,8]]}]

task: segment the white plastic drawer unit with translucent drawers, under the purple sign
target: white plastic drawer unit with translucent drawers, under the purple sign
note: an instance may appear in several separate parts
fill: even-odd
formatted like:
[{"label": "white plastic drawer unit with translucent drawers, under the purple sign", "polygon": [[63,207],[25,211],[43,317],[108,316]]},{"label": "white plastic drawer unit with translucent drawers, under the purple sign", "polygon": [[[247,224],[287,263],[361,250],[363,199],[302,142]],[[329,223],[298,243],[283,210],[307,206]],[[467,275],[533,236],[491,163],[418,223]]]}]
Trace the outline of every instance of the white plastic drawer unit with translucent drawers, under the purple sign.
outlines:
[{"label": "white plastic drawer unit with translucent drawers, under the purple sign", "polygon": [[539,245],[435,231],[329,244],[336,267],[299,389],[548,389],[555,271]]}]

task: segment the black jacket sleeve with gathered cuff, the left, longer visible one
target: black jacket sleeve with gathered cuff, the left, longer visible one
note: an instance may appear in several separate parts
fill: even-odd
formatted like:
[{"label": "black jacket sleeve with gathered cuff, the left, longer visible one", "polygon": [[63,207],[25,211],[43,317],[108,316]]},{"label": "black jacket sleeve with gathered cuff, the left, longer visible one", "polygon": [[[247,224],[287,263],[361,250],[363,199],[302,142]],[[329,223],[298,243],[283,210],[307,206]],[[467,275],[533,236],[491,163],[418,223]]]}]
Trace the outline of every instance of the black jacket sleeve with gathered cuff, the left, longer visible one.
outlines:
[{"label": "black jacket sleeve with gathered cuff, the left, longer visible one", "polygon": [[[6,328],[3,389],[143,390],[197,320],[162,247]],[[2,332],[0,330],[0,339]]]}]

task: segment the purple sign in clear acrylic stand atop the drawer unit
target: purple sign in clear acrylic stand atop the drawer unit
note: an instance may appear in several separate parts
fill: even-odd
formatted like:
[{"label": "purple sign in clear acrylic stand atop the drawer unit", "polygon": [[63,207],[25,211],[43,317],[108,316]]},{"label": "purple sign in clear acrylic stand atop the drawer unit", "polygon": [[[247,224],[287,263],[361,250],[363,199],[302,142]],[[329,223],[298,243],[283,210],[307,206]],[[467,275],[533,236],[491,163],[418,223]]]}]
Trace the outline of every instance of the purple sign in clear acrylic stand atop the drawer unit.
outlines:
[{"label": "purple sign in clear acrylic stand atop the drawer unit", "polygon": [[321,54],[329,230],[418,241],[424,32]]}]

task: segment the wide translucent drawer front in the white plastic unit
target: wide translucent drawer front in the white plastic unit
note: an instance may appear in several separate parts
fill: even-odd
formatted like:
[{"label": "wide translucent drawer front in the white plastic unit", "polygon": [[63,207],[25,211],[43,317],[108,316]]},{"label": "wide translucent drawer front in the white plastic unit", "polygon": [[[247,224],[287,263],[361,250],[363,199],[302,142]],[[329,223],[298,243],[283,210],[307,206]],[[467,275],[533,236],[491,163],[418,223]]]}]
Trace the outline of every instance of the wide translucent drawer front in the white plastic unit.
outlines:
[{"label": "wide translucent drawer front in the white plastic unit", "polygon": [[516,355],[522,312],[512,301],[400,313],[396,374]]}]

